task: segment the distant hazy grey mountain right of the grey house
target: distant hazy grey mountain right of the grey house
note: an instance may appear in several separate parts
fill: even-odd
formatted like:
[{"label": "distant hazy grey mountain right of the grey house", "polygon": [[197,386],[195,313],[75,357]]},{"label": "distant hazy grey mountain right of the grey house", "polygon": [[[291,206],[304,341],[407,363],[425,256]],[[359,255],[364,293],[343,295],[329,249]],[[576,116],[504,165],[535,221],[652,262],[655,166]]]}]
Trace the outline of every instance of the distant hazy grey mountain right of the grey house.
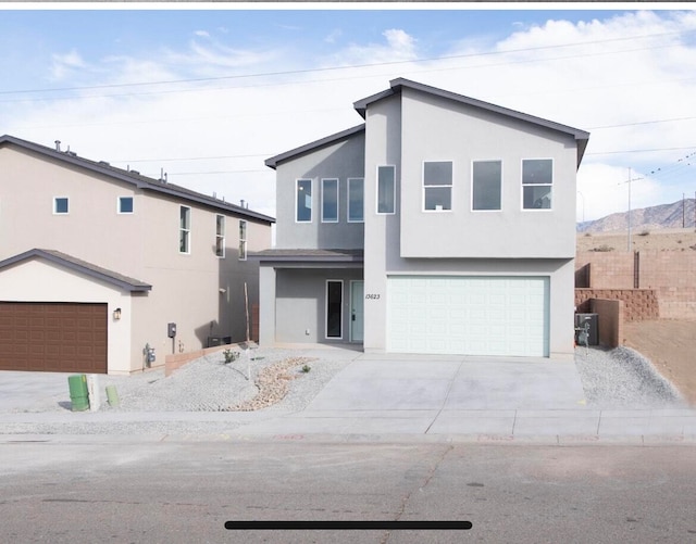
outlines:
[{"label": "distant hazy grey mountain right of the grey house", "polygon": [[[672,204],[644,207],[631,211],[631,229],[694,228],[696,212],[694,199],[676,201]],[[594,222],[577,224],[579,232],[609,232],[629,228],[629,213],[611,214]]]}]

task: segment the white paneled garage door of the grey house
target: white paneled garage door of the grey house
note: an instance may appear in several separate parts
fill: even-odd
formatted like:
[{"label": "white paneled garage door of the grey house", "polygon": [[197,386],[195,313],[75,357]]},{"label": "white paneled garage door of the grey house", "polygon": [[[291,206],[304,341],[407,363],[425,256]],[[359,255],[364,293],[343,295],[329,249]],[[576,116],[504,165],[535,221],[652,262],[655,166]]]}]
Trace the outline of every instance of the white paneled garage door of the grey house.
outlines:
[{"label": "white paneled garage door of the grey house", "polygon": [[387,350],[548,356],[545,277],[390,277]]}]

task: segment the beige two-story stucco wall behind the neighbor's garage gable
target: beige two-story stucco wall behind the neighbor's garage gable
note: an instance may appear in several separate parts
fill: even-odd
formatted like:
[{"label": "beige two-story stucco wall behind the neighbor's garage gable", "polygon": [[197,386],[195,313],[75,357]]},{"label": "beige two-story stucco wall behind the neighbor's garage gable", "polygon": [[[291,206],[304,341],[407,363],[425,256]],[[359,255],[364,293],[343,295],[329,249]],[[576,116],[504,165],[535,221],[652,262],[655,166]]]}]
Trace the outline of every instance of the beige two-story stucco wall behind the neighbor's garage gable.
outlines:
[{"label": "beige two-story stucco wall behind the neighbor's garage gable", "polygon": [[[128,364],[116,363],[119,369],[139,370],[146,344],[156,347],[156,364],[164,364],[167,353],[206,347],[210,336],[246,339],[244,283],[251,307],[258,263],[238,258],[238,222],[247,220],[248,252],[271,246],[270,225],[15,147],[0,148],[0,260],[34,248],[58,250],[152,286],[129,299],[132,312],[122,306],[119,325],[128,320],[132,341]],[[70,199],[69,214],[53,214],[54,197]],[[117,213],[119,197],[134,198],[133,214]],[[181,205],[191,208],[187,254],[179,253]],[[217,214],[226,217],[225,258],[214,252]],[[167,322],[177,324],[174,343]]]}]

